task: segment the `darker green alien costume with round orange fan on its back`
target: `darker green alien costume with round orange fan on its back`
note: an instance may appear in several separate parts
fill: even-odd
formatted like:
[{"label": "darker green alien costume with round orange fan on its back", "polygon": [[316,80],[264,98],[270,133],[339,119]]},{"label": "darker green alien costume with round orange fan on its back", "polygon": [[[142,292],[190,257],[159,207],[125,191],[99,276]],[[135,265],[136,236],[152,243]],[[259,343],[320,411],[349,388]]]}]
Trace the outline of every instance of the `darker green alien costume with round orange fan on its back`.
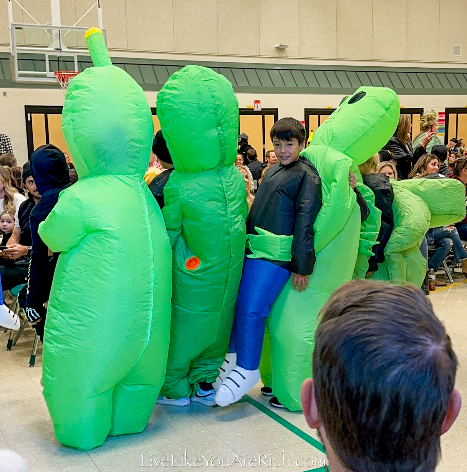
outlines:
[{"label": "darker green alien costume with round orange fan on its back", "polygon": [[[236,157],[238,102],[207,67],[172,74],[157,114],[174,161],[163,215],[173,248],[172,325],[161,393],[192,396],[224,361],[242,276],[247,204]],[[199,259],[190,270],[189,261]],[[196,264],[195,264],[196,265]]]}]

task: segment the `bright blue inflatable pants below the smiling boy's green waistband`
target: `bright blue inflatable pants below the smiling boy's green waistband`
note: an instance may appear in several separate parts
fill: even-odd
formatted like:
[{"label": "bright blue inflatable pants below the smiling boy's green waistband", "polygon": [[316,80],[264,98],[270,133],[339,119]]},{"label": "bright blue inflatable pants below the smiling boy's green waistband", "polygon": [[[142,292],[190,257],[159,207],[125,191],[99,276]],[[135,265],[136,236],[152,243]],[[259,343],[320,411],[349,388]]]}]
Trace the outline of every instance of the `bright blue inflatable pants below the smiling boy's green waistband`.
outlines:
[{"label": "bright blue inflatable pants below the smiling boy's green waistband", "polygon": [[259,368],[265,320],[291,272],[264,259],[243,262],[229,352],[237,353],[237,365],[248,371]]}]

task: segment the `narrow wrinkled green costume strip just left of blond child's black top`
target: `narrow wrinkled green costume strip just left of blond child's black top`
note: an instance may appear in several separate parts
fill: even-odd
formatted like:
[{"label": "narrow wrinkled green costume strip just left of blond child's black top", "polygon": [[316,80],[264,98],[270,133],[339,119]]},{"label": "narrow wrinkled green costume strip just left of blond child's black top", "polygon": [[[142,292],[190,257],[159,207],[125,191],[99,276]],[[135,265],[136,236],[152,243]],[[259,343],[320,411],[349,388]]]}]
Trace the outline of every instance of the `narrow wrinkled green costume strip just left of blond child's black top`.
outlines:
[{"label": "narrow wrinkled green costume strip just left of blond child's black top", "polygon": [[365,278],[368,272],[368,258],[373,254],[372,248],[377,244],[379,228],[381,227],[381,211],[375,207],[375,194],[369,187],[357,182],[357,188],[367,202],[370,214],[360,225],[359,255],[355,263],[352,278]]}]

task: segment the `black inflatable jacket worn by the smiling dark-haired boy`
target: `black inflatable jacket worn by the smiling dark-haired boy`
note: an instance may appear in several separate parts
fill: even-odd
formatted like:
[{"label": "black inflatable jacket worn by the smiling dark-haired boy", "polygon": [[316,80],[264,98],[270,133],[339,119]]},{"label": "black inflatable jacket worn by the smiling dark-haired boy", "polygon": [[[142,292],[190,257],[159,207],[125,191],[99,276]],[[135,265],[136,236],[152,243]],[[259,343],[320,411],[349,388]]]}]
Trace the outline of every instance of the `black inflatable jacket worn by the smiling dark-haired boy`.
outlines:
[{"label": "black inflatable jacket worn by the smiling dark-haired boy", "polygon": [[309,160],[300,157],[287,166],[275,163],[258,188],[246,222],[247,233],[258,234],[258,227],[293,236],[292,260],[271,262],[296,274],[310,275],[316,261],[313,224],[321,205],[321,179]]}]

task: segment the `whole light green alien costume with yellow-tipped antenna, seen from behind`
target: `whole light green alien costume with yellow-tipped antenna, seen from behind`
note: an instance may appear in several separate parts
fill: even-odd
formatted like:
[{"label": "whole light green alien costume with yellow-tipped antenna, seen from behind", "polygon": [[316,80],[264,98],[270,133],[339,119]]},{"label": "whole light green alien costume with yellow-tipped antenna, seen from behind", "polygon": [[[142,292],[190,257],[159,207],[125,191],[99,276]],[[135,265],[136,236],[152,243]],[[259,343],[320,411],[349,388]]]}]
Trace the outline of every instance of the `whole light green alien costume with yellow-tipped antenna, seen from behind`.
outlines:
[{"label": "whole light green alien costume with yellow-tipped antenna, seen from behind", "polygon": [[[98,47],[110,64],[99,31],[87,38],[92,59]],[[43,394],[57,439],[87,450],[149,421],[166,370],[172,255],[142,180],[153,125],[141,87],[120,67],[86,69],[68,87],[62,130],[79,180],[39,229],[61,251]]]}]

